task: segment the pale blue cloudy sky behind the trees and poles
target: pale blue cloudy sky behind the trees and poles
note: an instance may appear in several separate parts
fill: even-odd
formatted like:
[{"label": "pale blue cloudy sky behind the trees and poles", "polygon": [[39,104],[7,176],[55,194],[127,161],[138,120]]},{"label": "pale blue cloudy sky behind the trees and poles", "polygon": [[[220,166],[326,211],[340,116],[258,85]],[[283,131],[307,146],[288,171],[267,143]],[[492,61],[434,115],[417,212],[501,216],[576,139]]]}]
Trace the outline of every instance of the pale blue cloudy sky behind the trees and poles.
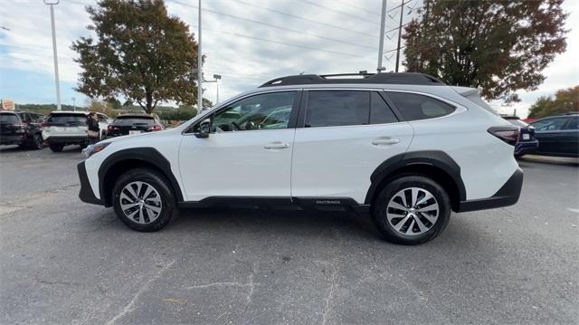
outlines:
[{"label": "pale blue cloudy sky behind the trees and poles", "polygon": [[[405,1],[403,23],[417,16],[422,0]],[[56,44],[63,104],[85,105],[88,98],[76,92],[81,72],[71,43],[90,36],[86,5],[94,0],[61,0],[54,6]],[[169,14],[185,21],[197,35],[198,0],[166,0]],[[42,0],[0,0],[0,98],[17,103],[55,103],[50,9]],[[203,0],[202,52],[204,75],[221,74],[220,101],[251,90],[280,76],[375,72],[380,33],[380,0]],[[394,71],[400,0],[388,0],[384,62]],[[396,8],[398,6],[398,8]],[[536,91],[517,91],[521,101],[503,113],[527,116],[540,96],[579,85],[579,1],[566,0],[570,15],[567,50],[546,70],[546,81]],[[403,61],[403,51],[401,51]],[[403,68],[401,68],[403,71]],[[204,84],[204,97],[215,101],[216,83]],[[195,90],[194,90],[195,91]]]}]

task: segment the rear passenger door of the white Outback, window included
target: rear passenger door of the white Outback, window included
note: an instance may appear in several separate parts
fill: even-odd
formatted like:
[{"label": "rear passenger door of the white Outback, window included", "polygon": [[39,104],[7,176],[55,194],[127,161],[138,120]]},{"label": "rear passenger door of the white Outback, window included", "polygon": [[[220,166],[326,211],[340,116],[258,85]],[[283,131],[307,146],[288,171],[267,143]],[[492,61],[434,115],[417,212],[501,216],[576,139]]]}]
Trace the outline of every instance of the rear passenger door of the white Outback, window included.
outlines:
[{"label": "rear passenger door of the white Outback, window included", "polygon": [[413,129],[375,90],[305,91],[291,165],[291,196],[364,203],[370,176],[406,151]]}]

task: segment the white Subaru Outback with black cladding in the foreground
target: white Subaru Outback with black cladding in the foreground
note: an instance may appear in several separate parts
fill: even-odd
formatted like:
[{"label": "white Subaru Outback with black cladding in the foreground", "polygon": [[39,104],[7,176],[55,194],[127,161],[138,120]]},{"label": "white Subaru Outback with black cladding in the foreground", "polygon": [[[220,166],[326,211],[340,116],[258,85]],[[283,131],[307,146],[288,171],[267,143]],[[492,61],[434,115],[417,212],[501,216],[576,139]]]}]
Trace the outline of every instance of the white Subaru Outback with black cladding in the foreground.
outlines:
[{"label": "white Subaru Outback with black cladding in the foreground", "polygon": [[519,128],[478,90],[421,73],[356,77],[268,81],[176,129],[91,145],[79,196],[144,232],[176,207],[354,210],[401,244],[431,240],[451,211],[517,202]]}]

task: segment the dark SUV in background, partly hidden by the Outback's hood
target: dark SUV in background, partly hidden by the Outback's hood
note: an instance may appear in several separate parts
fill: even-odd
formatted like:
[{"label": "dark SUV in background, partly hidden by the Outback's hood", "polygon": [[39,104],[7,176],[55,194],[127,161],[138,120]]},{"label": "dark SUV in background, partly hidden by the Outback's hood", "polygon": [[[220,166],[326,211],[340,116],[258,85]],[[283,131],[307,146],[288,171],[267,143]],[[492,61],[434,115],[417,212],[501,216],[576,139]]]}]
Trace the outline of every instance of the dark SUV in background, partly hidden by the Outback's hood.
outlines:
[{"label": "dark SUV in background, partly hidden by the Outback's hood", "polygon": [[119,137],[143,132],[160,131],[164,129],[156,116],[147,114],[124,114],[115,118],[109,124],[107,137]]}]

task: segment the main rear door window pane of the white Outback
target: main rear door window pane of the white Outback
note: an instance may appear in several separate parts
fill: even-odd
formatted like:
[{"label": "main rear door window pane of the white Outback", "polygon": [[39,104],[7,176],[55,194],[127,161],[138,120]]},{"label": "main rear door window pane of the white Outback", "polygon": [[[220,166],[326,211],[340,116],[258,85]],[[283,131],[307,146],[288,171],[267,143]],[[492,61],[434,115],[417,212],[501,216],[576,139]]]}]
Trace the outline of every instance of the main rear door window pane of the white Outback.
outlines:
[{"label": "main rear door window pane of the white Outback", "polygon": [[308,91],[306,128],[369,122],[369,91]]}]

